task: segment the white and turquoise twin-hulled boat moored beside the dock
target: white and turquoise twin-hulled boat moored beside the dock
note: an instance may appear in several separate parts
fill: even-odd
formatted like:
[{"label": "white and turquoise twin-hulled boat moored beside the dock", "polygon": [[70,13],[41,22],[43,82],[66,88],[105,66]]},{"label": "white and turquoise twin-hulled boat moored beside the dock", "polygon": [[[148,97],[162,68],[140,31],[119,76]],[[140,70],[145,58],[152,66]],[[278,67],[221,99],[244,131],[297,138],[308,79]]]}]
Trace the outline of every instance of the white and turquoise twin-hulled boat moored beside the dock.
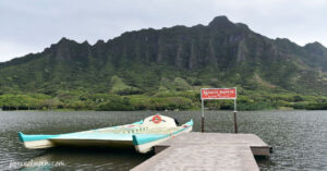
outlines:
[{"label": "white and turquoise twin-hulled boat moored beside the dock", "polygon": [[19,136],[24,146],[31,149],[56,146],[134,146],[136,151],[145,154],[161,142],[191,132],[192,127],[192,120],[178,126],[174,119],[156,114],[140,122],[113,127],[58,135],[25,135],[20,132]]}]

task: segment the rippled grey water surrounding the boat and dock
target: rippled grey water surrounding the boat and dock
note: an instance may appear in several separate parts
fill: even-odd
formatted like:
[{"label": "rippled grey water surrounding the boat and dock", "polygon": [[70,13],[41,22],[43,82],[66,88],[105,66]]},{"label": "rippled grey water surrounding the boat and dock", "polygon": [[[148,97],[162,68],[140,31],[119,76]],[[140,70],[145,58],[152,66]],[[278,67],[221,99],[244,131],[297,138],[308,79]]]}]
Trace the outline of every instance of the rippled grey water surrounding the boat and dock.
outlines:
[{"label": "rippled grey water surrounding the boat and dock", "polygon": [[[193,119],[194,131],[201,130],[199,112],[164,113],[177,118],[180,123]],[[152,154],[108,148],[31,150],[23,147],[16,133],[69,133],[131,123],[150,114],[153,112],[148,111],[0,111],[0,170],[20,169],[19,164],[24,161],[50,163],[38,167],[39,170],[129,170],[152,157]],[[254,133],[274,148],[269,159],[257,159],[262,170],[327,170],[327,111],[239,112],[238,120],[240,133]],[[206,112],[206,131],[233,132],[231,112]]]}]

